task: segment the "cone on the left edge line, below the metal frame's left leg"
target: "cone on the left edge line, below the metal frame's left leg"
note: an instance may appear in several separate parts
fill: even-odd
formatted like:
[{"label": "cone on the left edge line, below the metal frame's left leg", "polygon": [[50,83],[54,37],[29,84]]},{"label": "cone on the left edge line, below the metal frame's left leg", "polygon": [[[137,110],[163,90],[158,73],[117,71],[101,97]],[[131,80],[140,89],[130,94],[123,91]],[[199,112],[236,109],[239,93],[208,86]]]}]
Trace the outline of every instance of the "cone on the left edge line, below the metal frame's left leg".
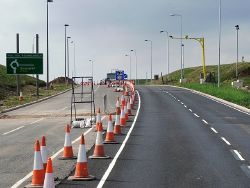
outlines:
[{"label": "cone on the left edge line, below the metal frame's left leg", "polygon": [[69,125],[66,126],[63,156],[59,157],[59,159],[61,160],[76,159],[76,156],[74,156],[73,154]]}]

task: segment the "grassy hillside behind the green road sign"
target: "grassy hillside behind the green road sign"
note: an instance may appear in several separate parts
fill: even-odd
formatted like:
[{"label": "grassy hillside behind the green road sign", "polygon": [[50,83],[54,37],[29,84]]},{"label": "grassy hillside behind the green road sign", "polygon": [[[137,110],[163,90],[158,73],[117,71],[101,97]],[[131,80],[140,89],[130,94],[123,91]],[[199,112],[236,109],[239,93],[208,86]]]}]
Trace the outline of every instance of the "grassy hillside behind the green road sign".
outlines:
[{"label": "grassy hillside behind the green road sign", "polygon": [[[36,79],[32,76],[20,75],[20,84],[22,90],[32,91],[35,90]],[[46,83],[39,80],[39,85],[44,87]],[[0,65],[0,100],[12,95],[16,95],[16,76],[7,75],[6,67]]]}]

